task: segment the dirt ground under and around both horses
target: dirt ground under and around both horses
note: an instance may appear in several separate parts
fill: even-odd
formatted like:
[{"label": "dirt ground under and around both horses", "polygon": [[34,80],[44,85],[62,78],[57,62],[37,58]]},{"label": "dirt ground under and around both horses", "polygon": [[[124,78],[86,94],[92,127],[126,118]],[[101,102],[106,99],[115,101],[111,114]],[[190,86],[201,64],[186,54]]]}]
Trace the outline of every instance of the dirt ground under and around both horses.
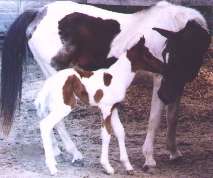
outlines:
[{"label": "dirt ground under and around both horses", "polygon": [[9,137],[0,137],[0,178],[213,177],[213,60],[205,60],[198,78],[187,85],[181,101],[177,143],[183,158],[175,162],[168,159],[164,113],[155,143],[157,168],[150,173],[142,171],[142,145],[150,110],[152,82],[143,75],[137,76],[119,108],[130,161],[135,169],[133,176],[127,176],[119,162],[114,137],[110,145],[110,161],[116,174],[109,176],[103,172],[99,163],[100,114],[97,109],[86,106],[76,108],[66,119],[69,133],[84,155],[84,165],[72,165],[72,156],[63,150],[63,154],[57,158],[59,172],[56,176],[50,176],[44,162],[39,119],[33,105],[43,80],[39,67],[31,61],[24,77],[21,110],[16,114]]}]

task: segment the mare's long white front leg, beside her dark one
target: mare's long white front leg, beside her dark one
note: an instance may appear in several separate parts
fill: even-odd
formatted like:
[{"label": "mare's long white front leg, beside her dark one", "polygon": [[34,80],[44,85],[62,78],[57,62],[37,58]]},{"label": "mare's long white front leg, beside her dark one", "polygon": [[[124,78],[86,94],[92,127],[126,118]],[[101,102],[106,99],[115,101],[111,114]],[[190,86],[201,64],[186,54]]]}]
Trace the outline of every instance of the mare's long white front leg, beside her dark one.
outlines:
[{"label": "mare's long white front leg, beside her dark one", "polygon": [[154,77],[154,85],[153,85],[153,94],[152,94],[152,102],[151,102],[151,111],[149,117],[149,125],[147,130],[147,135],[145,142],[143,144],[143,155],[145,156],[144,168],[155,167],[156,161],[153,158],[153,145],[155,133],[159,127],[160,117],[162,109],[164,108],[164,104],[158,97],[158,89],[160,88],[161,77]]}]

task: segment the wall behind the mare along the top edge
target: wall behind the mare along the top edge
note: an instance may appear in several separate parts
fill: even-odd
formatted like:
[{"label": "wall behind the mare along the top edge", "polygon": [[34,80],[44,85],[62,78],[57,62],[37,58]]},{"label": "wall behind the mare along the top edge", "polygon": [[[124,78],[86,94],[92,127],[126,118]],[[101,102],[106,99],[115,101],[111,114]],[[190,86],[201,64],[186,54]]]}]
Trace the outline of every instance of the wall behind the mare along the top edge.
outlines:
[{"label": "wall behind the mare along the top edge", "polygon": [[[24,10],[41,7],[54,0],[0,0],[0,40],[13,20]],[[119,12],[134,12],[141,6],[150,6],[159,0],[72,0]],[[210,28],[213,27],[213,0],[169,0],[176,4],[196,6],[204,13]]]}]

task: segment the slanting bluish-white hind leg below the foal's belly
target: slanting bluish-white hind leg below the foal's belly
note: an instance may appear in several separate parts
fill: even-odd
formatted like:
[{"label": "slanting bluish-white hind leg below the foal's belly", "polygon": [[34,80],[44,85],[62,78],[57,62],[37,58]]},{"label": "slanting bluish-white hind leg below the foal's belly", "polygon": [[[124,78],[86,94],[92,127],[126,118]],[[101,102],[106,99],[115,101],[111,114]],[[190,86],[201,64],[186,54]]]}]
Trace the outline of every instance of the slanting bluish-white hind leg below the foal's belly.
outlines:
[{"label": "slanting bluish-white hind leg below the foal's belly", "polygon": [[57,131],[61,137],[61,140],[65,146],[66,151],[73,155],[72,162],[83,159],[81,152],[77,149],[77,147],[71,140],[71,138],[66,130],[66,127],[64,125],[64,122],[61,121],[61,122],[57,123],[55,128],[57,129]]}]

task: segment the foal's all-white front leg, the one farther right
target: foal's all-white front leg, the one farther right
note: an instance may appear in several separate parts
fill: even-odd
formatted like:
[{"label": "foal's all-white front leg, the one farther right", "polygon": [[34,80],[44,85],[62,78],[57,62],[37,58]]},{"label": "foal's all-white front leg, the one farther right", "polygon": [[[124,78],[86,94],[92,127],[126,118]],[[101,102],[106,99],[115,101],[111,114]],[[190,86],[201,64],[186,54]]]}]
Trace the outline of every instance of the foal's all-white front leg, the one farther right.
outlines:
[{"label": "foal's all-white front leg, the one farther right", "polygon": [[125,146],[125,132],[124,132],[124,127],[119,119],[118,115],[118,110],[114,109],[112,111],[112,116],[111,116],[111,124],[113,131],[115,133],[115,136],[118,139],[118,144],[120,148],[120,161],[123,163],[124,167],[126,168],[128,174],[132,174],[133,172],[133,167],[129,162],[128,154],[126,151],[126,146]]}]

